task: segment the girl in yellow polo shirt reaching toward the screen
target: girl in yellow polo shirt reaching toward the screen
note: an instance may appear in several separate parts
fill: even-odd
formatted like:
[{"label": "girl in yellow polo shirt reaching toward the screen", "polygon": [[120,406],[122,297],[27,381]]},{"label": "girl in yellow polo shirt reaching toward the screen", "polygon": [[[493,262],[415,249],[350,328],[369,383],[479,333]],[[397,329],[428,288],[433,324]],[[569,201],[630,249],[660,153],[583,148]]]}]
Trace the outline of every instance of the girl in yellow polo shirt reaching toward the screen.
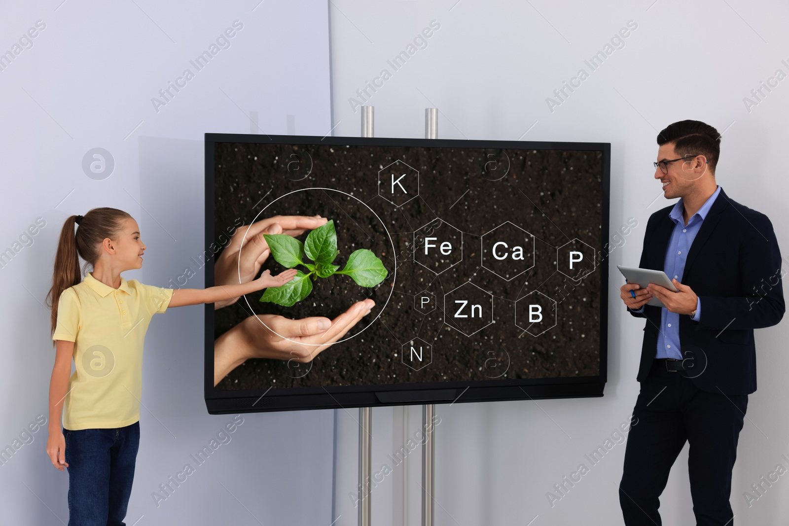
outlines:
[{"label": "girl in yellow polo shirt reaching toward the screen", "polygon": [[[74,224],[77,233],[74,233]],[[151,316],[181,307],[279,287],[296,275],[209,289],[163,289],[126,281],[142,267],[140,228],[124,211],[93,208],[65,220],[54,261],[47,454],[69,469],[69,526],[123,524],[140,441],[143,341]],[[81,280],[79,258],[92,265]],[[77,367],[71,373],[71,360]],[[62,430],[61,430],[62,412]],[[72,465],[73,464],[73,465]]]}]

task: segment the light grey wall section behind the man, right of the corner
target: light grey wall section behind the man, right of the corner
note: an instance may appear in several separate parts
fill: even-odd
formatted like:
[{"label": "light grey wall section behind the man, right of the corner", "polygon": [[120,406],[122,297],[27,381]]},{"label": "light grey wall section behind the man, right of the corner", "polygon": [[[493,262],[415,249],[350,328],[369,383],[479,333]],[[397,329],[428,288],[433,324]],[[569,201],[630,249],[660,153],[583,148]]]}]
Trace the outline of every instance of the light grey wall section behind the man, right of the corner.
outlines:
[{"label": "light grey wall section behind the man, right of the corner", "polygon": [[[780,246],[789,252],[783,147],[789,139],[789,80],[750,111],[743,102],[776,69],[789,74],[789,65],[781,62],[789,63],[789,7],[741,0],[446,0],[378,3],[374,9],[361,0],[334,0],[334,5],[335,135],[358,135],[361,112],[353,111],[349,99],[358,99],[357,89],[387,69],[391,78],[368,99],[376,108],[378,137],[424,136],[424,108],[436,106],[440,138],[611,143],[611,232],[630,217],[638,227],[611,253],[605,396],[437,406],[442,422],[436,430],[436,524],[621,524],[617,488],[624,444],[611,449],[553,507],[546,493],[578,464],[589,465],[585,453],[627,420],[638,394],[643,322],[618,303],[623,279],[615,265],[638,264],[649,215],[669,204],[662,196],[653,202],[660,194],[651,165],[655,138],[666,125],[686,118],[724,132],[720,185],[733,199],[768,215]],[[387,60],[406,50],[433,20],[440,28],[428,46],[394,71]],[[584,61],[628,21],[638,28],[624,47],[591,71]],[[549,110],[546,98],[581,68],[589,78]],[[787,476],[750,508],[743,497],[777,464],[789,469],[781,457],[789,457],[787,337],[787,322],[756,331],[759,389],[750,396],[740,434],[731,488],[735,524],[773,524],[789,517]],[[374,427],[391,419],[378,413]],[[379,434],[374,435],[377,441]],[[374,453],[374,468],[386,453]],[[686,461],[687,448],[661,499],[664,524],[694,524]],[[376,524],[402,524],[376,516],[376,506],[374,499]]]}]

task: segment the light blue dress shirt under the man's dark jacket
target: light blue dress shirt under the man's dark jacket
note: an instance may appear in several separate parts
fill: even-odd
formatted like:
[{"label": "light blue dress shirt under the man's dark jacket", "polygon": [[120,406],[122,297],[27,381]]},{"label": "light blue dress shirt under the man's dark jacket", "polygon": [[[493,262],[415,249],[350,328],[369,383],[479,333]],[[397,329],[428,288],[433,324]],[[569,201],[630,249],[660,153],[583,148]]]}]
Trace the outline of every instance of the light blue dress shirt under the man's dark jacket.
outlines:
[{"label": "light blue dress shirt under the man's dark jacket", "polygon": [[[682,199],[677,201],[674,208],[669,212],[668,217],[675,223],[674,230],[671,232],[671,238],[668,240],[666,260],[663,267],[669,278],[674,278],[682,283],[682,273],[685,271],[685,262],[690,251],[690,245],[693,244],[696,234],[701,229],[701,224],[707,217],[709,209],[712,208],[712,203],[715,203],[718,194],[720,194],[720,186],[716,188],[715,193],[709,196],[704,205],[688,220],[687,225],[685,224],[685,218],[682,217],[682,213],[685,211]],[[638,312],[643,310],[644,308],[641,307]],[[696,300],[696,315],[692,319],[694,321],[701,319],[701,299]],[[665,307],[660,309],[660,334],[657,337],[655,357],[682,360],[682,352],[679,347],[679,313],[669,312]]]}]

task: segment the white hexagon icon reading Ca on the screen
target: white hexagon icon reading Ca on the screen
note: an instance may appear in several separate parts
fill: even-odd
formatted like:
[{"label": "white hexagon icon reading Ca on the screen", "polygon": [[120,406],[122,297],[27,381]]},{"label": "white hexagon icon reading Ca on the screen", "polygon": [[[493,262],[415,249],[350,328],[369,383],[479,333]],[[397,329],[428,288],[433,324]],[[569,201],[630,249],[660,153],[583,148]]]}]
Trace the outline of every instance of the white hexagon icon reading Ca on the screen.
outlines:
[{"label": "white hexagon icon reading Ca on the screen", "polygon": [[482,266],[509,282],[534,267],[534,236],[506,221],[482,236]]}]

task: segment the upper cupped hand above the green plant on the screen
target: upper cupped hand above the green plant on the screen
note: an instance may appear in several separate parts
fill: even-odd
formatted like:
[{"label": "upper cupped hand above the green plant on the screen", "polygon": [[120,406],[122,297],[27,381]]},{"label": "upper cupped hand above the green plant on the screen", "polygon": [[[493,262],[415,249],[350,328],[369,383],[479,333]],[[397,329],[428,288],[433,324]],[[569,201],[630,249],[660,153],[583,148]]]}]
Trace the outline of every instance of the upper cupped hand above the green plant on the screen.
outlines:
[{"label": "upper cupped hand above the green plant on the screen", "polygon": [[[264,234],[283,233],[296,237],[307,230],[325,225],[327,218],[320,215],[275,215],[262,219],[252,225],[238,227],[228,244],[219,255],[214,266],[215,285],[234,285],[251,282],[260,267],[265,263],[271,250],[268,248]],[[243,247],[241,246],[243,242]],[[222,308],[234,304],[238,297],[217,301],[214,308]]]}]

